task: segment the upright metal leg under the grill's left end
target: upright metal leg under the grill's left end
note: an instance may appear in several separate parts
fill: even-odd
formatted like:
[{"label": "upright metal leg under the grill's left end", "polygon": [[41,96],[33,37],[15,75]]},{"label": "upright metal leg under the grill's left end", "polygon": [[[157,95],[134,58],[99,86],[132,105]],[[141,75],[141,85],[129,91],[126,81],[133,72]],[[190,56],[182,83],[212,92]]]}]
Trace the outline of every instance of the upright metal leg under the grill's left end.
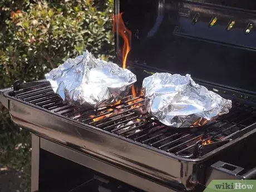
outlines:
[{"label": "upright metal leg under the grill's left end", "polygon": [[40,137],[32,134],[31,192],[39,189]]}]

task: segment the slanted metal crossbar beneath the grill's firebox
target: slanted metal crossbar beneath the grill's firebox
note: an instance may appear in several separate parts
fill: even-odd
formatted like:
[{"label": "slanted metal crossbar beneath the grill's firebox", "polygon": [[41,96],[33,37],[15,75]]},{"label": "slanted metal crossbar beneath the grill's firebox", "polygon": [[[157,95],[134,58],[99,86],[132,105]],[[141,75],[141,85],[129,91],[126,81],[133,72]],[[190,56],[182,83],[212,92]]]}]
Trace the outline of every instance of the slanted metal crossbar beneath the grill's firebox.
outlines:
[{"label": "slanted metal crossbar beneath the grill's firebox", "polygon": [[136,188],[145,190],[147,192],[178,191],[178,190],[173,190],[171,188],[168,188],[165,185],[161,185],[156,181],[143,178],[141,175],[138,175],[136,173],[131,173],[115,165],[111,165],[109,163],[101,161],[100,159],[96,159],[95,157],[90,156],[88,154],[57,144],[56,142],[52,142],[43,138],[40,138],[40,142],[41,142],[41,148],[46,151],[65,157],[66,159],[69,159],[78,164],[86,166],[87,168],[90,168],[102,174],[111,176],[112,178],[121,180],[126,184],[135,186]]}]

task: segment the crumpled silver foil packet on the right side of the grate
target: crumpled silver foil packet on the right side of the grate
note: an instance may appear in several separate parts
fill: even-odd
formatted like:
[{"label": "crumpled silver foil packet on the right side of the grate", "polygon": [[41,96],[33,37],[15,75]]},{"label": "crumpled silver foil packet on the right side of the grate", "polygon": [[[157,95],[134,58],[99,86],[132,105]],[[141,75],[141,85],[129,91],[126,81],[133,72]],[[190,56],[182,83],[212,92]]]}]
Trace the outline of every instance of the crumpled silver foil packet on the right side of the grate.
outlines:
[{"label": "crumpled silver foil packet on the right side of the grate", "polygon": [[149,113],[172,127],[203,126],[232,108],[232,101],[198,85],[190,75],[155,73],[144,79],[142,92]]}]

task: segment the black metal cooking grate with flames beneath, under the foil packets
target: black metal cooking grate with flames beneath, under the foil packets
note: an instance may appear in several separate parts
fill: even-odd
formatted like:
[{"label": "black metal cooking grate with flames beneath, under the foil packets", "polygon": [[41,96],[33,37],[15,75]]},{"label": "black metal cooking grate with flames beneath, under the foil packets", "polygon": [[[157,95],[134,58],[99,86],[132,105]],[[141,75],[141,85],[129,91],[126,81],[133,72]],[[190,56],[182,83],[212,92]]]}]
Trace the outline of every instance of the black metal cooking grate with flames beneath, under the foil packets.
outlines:
[{"label": "black metal cooking grate with flames beneath, under the foil packets", "polygon": [[186,158],[208,153],[248,132],[249,125],[256,122],[255,108],[234,100],[229,114],[195,130],[164,126],[146,112],[141,97],[127,96],[119,103],[97,111],[79,109],[63,102],[48,82],[18,91],[15,97],[112,134]]}]

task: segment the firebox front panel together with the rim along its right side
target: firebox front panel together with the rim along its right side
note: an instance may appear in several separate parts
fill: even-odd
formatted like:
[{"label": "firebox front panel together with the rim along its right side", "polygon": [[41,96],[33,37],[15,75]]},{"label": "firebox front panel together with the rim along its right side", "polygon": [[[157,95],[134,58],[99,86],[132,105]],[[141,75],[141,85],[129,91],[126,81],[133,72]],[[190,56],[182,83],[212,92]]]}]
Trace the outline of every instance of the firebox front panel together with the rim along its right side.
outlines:
[{"label": "firebox front panel together with the rim along its right side", "polygon": [[[132,171],[149,178],[161,182],[168,181],[170,184],[187,189],[191,189],[191,179],[198,180],[197,175],[203,174],[198,173],[198,171],[200,172],[198,166],[204,164],[212,155],[223,154],[230,147],[237,146],[238,142],[253,136],[256,132],[255,124],[253,124],[240,130],[240,137],[212,150],[210,153],[200,158],[186,159],[68,117],[59,116],[46,109],[38,110],[33,104],[24,103],[13,97],[10,98],[12,100],[9,100],[9,112],[12,120],[19,126],[26,127],[32,132],[64,145],[72,144],[80,147],[87,154],[110,161],[124,169],[132,169]],[[166,165],[171,166],[166,168]]]}]

